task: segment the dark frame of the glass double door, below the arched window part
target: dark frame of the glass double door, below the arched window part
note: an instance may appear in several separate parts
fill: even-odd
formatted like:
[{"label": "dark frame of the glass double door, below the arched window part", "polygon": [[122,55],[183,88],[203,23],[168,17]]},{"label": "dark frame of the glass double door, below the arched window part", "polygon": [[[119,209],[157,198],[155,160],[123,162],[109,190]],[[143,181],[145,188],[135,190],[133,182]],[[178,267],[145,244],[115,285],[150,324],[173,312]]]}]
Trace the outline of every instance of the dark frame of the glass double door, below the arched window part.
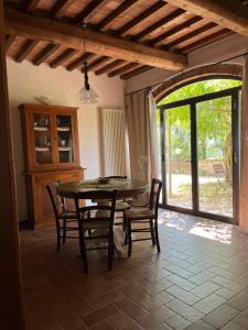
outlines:
[{"label": "dark frame of the glass double door, below the arched window part", "polygon": [[[202,96],[179,100],[168,105],[158,106],[160,110],[160,143],[161,143],[161,174],[163,180],[162,204],[161,208],[166,208],[177,212],[195,215],[218,221],[238,224],[238,191],[239,191],[239,91],[241,87],[234,87],[216,92],[205,94]],[[198,210],[198,175],[197,175],[197,122],[196,105],[203,101],[209,101],[223,97],[230,97],[231,101],[231,147],[233,147],[233,215],[234,217],[219,216]],[[166,162],[165,162],[165,125],[164,110],[177,107],[188,106],[191,111],[191,157],[192,157],[192,201],[193,208],[186,209],[177,206],[171,206],[166,199]]]}]

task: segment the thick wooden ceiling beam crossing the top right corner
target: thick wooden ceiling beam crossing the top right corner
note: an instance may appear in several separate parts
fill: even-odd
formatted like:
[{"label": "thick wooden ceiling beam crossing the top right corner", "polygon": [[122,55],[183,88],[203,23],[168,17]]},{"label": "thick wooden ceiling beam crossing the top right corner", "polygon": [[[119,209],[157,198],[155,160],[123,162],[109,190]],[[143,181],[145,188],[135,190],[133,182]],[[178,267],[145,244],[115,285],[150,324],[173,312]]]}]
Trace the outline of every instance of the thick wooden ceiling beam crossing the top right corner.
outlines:
[{"label": "thick wooden ceiling beam crossing the top right corner", "polygon": [[169,0],[168,2],[248,36],[248,8],[236,0]]}]

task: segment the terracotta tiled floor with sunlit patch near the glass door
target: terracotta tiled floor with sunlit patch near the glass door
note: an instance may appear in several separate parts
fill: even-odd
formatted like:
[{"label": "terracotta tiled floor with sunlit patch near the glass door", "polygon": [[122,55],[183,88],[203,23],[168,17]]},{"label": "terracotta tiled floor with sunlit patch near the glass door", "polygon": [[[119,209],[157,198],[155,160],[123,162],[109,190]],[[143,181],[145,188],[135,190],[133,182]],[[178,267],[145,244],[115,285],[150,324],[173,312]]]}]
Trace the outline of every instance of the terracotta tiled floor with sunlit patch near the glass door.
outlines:
[{"label": "terracotta tiled floor with sunlit patch near the glass door", "polygon": [[85,275],[77,241],[57,253],[53,228],[22,231],[28,329],[248,329],[248,235],[165,211],[160,241],[160,255],[136,243],[111,272],[90,252]]}]

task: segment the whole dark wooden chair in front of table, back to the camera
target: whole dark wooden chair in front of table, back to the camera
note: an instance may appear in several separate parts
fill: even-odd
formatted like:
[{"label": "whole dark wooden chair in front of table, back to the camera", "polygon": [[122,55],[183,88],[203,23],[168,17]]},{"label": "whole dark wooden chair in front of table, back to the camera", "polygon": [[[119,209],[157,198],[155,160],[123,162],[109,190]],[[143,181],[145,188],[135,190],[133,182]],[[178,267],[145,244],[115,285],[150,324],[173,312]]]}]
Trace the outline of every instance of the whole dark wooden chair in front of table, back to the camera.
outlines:
[{"label": "whole dark wooden chair in front of table, back to the camera", "polygon": [[[75,197],[76,212],[79,223],[80,256],[84,260],[85,273],[88,273],[87,251],[108,250],[108,270],[112,267],[114,255],[114,220],[117,190],[79,193]],[[96,205],[80,208],[80,199],[108,200],[110,205]],[[100,246],[87,246],[88,241],[100,240]],[[103,246],[106,243],[106,246]]]}]

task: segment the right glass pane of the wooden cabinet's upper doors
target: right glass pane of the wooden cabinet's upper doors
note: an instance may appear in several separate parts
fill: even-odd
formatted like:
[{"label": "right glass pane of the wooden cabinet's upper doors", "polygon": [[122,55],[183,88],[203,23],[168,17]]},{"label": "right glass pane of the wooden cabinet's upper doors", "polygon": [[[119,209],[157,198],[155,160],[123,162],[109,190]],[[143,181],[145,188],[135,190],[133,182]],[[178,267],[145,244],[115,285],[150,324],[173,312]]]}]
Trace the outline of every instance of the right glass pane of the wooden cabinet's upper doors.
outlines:
[{"label": "right glass pane of the wooden cabinet's upper doors", "polygon": [[57,151],[58,163],[73,163],[73,133],[72,133],[72,117],[57,114]]}]

